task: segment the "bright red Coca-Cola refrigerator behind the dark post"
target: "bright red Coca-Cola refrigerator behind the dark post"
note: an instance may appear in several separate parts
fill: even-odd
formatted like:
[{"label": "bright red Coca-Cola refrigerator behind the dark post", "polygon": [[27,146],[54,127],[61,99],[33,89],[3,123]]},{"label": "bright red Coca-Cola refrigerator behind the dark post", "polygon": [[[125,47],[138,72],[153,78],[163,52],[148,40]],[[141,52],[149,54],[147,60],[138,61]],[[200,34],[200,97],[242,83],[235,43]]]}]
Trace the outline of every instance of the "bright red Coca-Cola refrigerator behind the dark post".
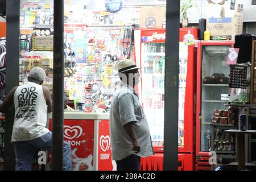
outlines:
[{"label": "bright red Coca-Cola refrigerator behind the dark post", "polygon": [[[138,94],[147,117],[152,144],[156,152],[154,156],[142,159],[141,169],[161,170],[163,169],[162,160],[164,150],[164,62],[166,30],[164,28],[139,29],[135,30],[134,36],[135,60],[137,65],[142,67]],[[180,28],[179,170],[193,170],[195,159],[196,49],[194,43],[197,38],[197,28]],[[168,141],[164,144],[168,144]],[[150,167],[151,163],[153,164],[152,167]]]}]

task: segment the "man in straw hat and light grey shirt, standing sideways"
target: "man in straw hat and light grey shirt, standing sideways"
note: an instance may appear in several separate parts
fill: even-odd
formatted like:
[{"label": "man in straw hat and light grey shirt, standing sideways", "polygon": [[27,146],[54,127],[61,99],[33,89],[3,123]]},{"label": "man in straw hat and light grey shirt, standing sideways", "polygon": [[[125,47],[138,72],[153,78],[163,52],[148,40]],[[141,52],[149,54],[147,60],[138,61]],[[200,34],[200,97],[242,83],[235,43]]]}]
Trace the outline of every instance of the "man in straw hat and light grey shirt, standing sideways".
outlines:
[{"label": "man in straw hat and light grey shirt, standing sideways", "polygon": [[118,171],[138,171],[141,157],[154,154],[147,119],[134,86],[139,69],[134,60],[117,64],[120,77],[110,109],[110,144]]}]

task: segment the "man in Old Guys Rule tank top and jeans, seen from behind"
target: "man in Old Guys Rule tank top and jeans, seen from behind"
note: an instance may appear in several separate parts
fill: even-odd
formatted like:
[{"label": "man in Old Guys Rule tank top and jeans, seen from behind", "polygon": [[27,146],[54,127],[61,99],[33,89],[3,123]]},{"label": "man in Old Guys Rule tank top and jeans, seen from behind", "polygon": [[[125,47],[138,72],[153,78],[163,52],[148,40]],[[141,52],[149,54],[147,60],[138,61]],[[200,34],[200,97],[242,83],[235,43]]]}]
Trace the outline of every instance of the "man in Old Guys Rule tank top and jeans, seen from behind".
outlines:
[{"label": "man in Old Guys Rule tank top and jeans, seen from behind", "polygon": [[[9,106],[15,106],[11,142],[14,144],[17,171],[31,170],[32,159],[40,148],[52,149],[52,133],[46,128],[52,99],[49,89],[42,86],[45,78],[43,68],[32,68],[27,84],[15,86],[0,109],[5,113]],[[71,147],[67,142],[64,142],[63,153],[63,169],[71,170]]]}]

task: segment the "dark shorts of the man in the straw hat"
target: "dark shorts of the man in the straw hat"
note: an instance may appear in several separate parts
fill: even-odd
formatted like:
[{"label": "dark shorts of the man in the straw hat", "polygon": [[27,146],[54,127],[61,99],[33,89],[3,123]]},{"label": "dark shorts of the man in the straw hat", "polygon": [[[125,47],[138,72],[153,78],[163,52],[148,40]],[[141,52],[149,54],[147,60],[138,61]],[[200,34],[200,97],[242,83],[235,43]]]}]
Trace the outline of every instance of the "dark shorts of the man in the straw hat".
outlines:
[{"label": "dark shorts of the man in the straw hat", "polygon": [[115,160],[117,163],[117,171],[139,171],[141,157],[131,154],[122,160]]}]

